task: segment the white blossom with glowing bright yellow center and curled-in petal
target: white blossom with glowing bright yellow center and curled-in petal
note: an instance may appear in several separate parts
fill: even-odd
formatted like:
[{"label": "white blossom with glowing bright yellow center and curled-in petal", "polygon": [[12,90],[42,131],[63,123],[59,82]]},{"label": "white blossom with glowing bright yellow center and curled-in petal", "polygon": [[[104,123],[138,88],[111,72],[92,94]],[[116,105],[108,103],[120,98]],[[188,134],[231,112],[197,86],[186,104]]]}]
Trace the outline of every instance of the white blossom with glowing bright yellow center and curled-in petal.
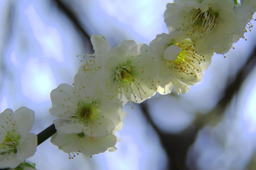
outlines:
[{"label": "white blossom with glowing bright yellow center and curled-in petal", "polygon": [[180,93],[186,93],[189,86],[202,79],[202,71],[211,63],[212,55],[198,55],[193,42],[185,33],[173,31],[162,33],[150,42],[158,58],[158,92],[168,94],[172,86]]}]

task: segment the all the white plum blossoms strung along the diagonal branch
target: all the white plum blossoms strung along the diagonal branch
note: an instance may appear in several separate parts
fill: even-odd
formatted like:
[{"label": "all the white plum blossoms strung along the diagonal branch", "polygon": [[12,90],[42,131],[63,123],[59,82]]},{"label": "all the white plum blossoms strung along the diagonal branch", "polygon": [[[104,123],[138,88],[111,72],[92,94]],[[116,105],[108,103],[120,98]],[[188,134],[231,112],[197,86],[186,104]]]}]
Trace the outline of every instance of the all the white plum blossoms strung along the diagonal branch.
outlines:
[{"label": "all the white plum blossoms strung along the diagonal branch", "polygon": [[[169,94],[172,87],[178,94],[188,92],[202,80],[214,53],[224,55],[233,43],[245,39],[256,11],[254,0],[174,0],[166,7],[168,33],[157,35],[149,45],[124,40],[116,47],[103,35],[93,34],[94,53],[77,56],[82,64],[72,86],[60,84],[50,93],[49,112],[57,118],[51,143],[70,158],[80,152],[92,156],[115,151],[120,141],[115,133],[122,129],[127,102],[133,108],[132,102],[141,103],[157,92]],[[28,133],[34,118],[19,131],[17,126],[25,126],[26,117],[12,114],[10,109],[0,114],[0,168],[15,168],[36,148],[34,135]],[[27,140],[30,143],[24,143]],[[25,154],[23,145],[28,144],[33,147]]]}]

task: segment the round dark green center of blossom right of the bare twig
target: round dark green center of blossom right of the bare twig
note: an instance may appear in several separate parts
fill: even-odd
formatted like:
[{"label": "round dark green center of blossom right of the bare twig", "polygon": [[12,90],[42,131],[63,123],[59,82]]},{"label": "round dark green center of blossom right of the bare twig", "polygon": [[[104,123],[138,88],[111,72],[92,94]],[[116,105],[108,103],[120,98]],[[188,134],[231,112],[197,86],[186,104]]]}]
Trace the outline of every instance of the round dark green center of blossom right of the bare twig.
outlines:
[{"label": "round dark green center of blossom right of the bare twig", "polygon": [[104,116],[98,111],[96,101],[92,100],[86,103],[80,100],[77,105],[76,113],[73,114],[72,118],[74,121],[84,124],[84,126],[90,126],[96,124],[100,125]]}]

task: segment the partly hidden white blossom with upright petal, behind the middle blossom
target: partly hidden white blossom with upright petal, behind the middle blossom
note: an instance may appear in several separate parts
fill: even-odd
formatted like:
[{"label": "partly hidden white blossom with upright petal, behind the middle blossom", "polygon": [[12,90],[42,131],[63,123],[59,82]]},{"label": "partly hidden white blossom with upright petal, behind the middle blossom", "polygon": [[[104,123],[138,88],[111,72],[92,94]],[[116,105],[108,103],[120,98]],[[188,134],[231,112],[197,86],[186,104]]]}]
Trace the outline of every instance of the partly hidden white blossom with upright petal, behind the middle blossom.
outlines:
[{"label": "partly hidden white blossom with upright petal, behind the middle blossom", "polygon": [[93,75],[95,72],[101,69],[104,63],[104,57],[98,57],[102,53],[107,53],[111,50],[111,45],[104,35],[91,35],[91,43],[94,49],[93,54],[78,55],[81,57],[82,64],[78,68],[78,72],[86,72]]}]

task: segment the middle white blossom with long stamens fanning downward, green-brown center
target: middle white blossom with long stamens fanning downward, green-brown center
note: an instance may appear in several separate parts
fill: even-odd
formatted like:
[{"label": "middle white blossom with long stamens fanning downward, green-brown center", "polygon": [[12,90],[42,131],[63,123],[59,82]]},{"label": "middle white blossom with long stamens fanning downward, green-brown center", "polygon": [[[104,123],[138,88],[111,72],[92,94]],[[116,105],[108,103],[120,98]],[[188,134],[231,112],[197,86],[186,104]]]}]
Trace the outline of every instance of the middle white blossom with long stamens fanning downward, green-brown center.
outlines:
[{"label": "middle white blossom with long stamens fanning downward, green-brown center", "polygon": [[93,80],[110,100],[118,97],[123,104],[129,101],[132,105],[132,101],[141,103],[156,93],[157,64],[154,51],[148,45],[124,40],[98,57],[106,62]]}]

